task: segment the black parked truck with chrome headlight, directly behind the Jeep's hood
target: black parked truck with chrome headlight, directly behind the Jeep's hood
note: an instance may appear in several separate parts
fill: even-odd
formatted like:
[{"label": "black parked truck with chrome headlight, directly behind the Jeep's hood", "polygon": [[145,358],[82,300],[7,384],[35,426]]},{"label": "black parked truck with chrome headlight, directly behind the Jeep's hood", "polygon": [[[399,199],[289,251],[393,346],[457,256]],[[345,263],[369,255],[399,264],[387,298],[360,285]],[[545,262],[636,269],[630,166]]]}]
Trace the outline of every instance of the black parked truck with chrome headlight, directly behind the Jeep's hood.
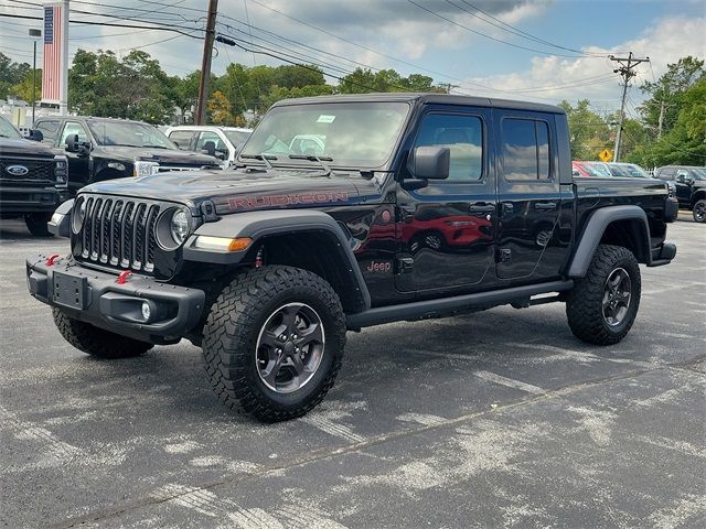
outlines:
[{"label": "black parked truck with chrome headlight, directly behind the Jeep's hood", "polygon": [[86,184],[168,171],[194,171],[217,165],[214,156],[179,150],[156,127],[125,119],[81,116],[36,120],[44,143],[68,156],[72,196]]}]

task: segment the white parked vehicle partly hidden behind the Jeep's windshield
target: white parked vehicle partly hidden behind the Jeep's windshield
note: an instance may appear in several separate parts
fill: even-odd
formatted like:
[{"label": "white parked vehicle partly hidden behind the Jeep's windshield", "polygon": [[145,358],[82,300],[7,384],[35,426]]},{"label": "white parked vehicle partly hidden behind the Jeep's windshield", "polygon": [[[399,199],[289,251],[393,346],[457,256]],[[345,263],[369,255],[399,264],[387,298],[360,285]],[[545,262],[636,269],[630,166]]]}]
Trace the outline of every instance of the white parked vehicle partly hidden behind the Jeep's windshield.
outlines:
[{"label": "white parked vehicle partly hidden behind the Jeep's windshield", "polygon": [[167,137],[180,149],[185,151],[204,152],[225,162],[235,163],[235,159],[253,133],[252,129],[238,127],[216,127],[184,125],[167,129]]}]

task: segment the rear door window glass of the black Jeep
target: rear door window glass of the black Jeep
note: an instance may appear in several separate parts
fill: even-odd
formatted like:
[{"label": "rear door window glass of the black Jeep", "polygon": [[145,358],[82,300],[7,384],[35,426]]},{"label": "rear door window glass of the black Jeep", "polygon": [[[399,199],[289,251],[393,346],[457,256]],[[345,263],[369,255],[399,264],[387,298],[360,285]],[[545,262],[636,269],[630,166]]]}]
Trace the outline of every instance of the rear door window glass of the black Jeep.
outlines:
[{"label": "rear door window glass of the black Jeep", "polygon": [[545,181],[552,177],[549,127],[546,121],[503,119],[502,139],[505,180]]}]

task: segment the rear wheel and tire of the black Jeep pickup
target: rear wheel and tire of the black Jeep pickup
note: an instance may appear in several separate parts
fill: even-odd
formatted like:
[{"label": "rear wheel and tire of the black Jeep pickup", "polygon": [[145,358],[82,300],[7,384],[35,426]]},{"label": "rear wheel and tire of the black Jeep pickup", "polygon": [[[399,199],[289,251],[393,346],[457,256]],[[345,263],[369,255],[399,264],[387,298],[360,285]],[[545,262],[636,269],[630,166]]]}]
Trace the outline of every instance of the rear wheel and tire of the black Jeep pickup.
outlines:
[{"label": "rear wheel and tire of the black Jeep pickup", "polygon": [[571,332],[591,344],[617,344],[635,321],[640,292],[635,256],[621,246],[600,245],[588,273],[576,280],[566,300]]}]

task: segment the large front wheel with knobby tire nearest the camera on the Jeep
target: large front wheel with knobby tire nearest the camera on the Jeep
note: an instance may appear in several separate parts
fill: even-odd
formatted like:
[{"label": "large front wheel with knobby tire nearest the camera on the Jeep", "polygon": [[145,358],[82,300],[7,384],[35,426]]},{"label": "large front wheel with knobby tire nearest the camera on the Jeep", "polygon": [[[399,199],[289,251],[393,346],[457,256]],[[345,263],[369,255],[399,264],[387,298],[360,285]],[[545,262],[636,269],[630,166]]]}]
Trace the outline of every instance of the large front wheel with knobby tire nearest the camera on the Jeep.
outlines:
[{"label": "large front wheel with knobby tire nearest the camera on the Jeep", "polygon": [[302,417],[333,386],[345,331],[341,301],[322,278],[286,266],[254,269],[211,307],[202,345],[206,371],[233,410],[266,422]]}]

